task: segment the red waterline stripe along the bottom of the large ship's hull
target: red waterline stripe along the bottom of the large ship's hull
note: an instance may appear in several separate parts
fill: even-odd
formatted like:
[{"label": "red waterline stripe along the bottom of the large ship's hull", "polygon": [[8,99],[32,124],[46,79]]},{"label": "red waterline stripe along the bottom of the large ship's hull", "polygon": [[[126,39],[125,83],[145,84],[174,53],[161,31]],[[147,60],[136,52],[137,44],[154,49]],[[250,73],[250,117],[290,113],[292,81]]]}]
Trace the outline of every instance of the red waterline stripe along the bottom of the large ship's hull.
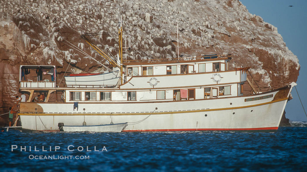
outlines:
[{"label": "red waterline stripe along the bottom of the large ship's hull", "polygon": [[158,130],[122,130],[122,132],[146,132],[146,131],[234,131],[234,130],[277,130],[278,127],[262,128],[188,128],[188,129],[158,129]]}]

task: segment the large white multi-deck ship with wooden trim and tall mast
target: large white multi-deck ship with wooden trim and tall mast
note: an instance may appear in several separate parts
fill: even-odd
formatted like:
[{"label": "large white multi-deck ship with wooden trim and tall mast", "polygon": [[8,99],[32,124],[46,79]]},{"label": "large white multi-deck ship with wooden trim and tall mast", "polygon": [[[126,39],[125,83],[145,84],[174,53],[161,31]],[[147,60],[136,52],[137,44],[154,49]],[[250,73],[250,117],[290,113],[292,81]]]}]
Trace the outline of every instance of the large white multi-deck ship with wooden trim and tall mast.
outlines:
[{"label": "large white multi-deck ship with wooden trim and tall mast", "polygon": [[[119,33],[122,40],[121,27]],[[122,44],[119,49],[127,50]],[[22,84],[21,92],[29,94],[19,106],[22,128],[59,131],[60,122],[76,126],[86,121],[97,126],[113,119],[131,123],[124,132],[277,130],[296,85],[260,93],[248,79],[250,67],[228,69],[230,54],[125,60],[120,51],[119,58],[120,79],[113,87]],[[243,95],[245,82],[253,94]],[[38,92],[47,93],[45,102],[31,102]],[[55,101],[49,101],[52,94]]]}]

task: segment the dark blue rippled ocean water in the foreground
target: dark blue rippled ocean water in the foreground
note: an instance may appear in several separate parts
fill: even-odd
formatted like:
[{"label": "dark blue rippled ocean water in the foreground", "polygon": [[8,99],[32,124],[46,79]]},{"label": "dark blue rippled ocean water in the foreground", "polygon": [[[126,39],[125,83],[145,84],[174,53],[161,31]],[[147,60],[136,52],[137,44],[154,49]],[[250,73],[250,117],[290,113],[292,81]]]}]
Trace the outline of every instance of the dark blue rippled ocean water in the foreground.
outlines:
[{"label": "dark blue rippled ocean water in the foreground", "polygon": [[[0,171],[307,171],[307,127],[279,127],[275,132],[11,130],[0,137]],[[17,146],[13,151],[12,145]],[[74,151],[68,151],[69,145]],[[60,148],[55,151],[55,146]],[[79,146],[84,150],[78,151]]]}]

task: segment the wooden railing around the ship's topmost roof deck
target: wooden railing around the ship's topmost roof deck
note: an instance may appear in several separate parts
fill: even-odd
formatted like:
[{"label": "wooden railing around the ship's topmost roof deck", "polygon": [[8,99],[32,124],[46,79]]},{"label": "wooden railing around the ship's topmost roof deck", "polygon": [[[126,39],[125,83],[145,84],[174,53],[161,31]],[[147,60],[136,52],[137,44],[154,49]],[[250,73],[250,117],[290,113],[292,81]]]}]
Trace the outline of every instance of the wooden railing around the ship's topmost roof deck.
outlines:
[{"label": "wooden railing around the ship's topmost roof deck", "polygon": [[170,62],[170,61],[183,61],[183,60],[204,60],[204,59],[215,59],[215,58],[229,58],[231,54],[216,55],[210,54],[201,57],[180,57],[180,58],[166,58],[166,59],[140,59],[140,60],[125,60],[124,63],[143,63],[143,62]]}]

